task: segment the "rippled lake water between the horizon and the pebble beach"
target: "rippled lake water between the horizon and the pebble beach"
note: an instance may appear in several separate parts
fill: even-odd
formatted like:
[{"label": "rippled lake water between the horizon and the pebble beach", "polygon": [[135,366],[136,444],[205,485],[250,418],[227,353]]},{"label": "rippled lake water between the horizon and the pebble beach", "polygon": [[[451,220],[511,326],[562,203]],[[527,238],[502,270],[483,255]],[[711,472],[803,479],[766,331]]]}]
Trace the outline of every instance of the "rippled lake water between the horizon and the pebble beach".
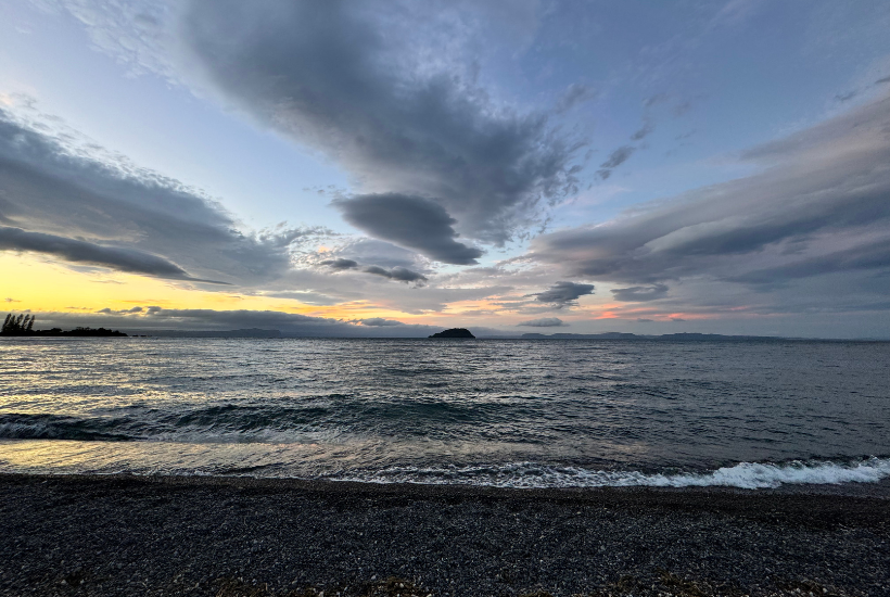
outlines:
[{"label": "rippled lake water between the horizon and the pebble beach", "polygon": [[0,471],[877,481],[888,379],[888,343],[3,339]]}]

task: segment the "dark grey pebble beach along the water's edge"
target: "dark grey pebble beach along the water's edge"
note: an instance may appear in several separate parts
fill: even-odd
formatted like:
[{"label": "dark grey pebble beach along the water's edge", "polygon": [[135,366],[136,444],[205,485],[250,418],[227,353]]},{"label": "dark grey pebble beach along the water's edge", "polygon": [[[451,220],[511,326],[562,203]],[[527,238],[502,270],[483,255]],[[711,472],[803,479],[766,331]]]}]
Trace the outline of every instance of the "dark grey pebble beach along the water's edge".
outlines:
[{"label": "dark grey pebble beach along the water's edge", "polygon": [[494,490],[0,475],[0,594],[890,595],[886,483]]}]

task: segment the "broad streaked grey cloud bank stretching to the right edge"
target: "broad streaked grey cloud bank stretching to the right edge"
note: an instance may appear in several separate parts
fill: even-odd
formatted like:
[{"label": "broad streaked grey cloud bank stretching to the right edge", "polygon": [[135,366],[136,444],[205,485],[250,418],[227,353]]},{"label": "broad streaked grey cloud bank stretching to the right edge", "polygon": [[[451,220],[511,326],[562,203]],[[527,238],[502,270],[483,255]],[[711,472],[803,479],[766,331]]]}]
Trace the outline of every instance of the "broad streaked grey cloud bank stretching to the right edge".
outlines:
[{"label": "broad streaked grey cloud bank stretching to the right edge", "polygon": [[888,130],[885,97],[746,152],[745,161],[762,167],[756,174],[637,207],[605,225],[543,234],[531,256],[565,276],[653,289],[694,277],[765,289],[859,271],[848,280],[853,287],[829,284],[822,297],[854,287],[866,292],[869,277],[890,270]]}]

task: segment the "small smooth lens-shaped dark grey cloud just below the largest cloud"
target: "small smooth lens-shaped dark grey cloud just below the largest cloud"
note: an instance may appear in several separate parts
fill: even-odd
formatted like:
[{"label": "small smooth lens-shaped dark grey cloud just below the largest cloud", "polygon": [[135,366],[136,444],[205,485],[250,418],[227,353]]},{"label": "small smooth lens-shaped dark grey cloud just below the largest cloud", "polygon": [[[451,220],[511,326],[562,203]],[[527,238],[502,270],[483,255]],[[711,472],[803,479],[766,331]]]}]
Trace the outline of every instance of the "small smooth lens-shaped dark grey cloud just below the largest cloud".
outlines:
[{"label": "small smooth lens-shaped dark grey cloud just below the largest cloud", "polygon": [[482,251],[455,240],[456,220],[444,207],[432,201],[381,193],[339,200],[333,205],[343,218],[372,237],[420,251],[438,262],[471,265]]}]

